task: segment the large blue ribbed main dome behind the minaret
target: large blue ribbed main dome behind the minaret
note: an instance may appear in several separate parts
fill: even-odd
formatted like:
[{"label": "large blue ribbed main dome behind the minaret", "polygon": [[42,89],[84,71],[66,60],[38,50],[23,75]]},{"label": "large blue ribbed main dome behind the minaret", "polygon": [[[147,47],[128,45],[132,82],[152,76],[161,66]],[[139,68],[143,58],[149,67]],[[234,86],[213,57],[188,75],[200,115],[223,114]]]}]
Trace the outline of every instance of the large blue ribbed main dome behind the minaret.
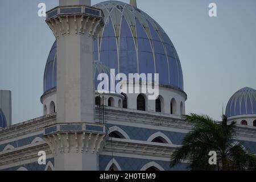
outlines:
[{"label": "large blue ribbed main dome behind the minaret", "polygon": [[[105,15],[105,26],[94,40],[94,60],[126,75],[159,73],[160,84],[183,90],[179,56],[166,32],[154,19],[123,2],[106,1],[94,7],[102,9]],[[56,42],[44,72],[44,92],[55,87]]]}]

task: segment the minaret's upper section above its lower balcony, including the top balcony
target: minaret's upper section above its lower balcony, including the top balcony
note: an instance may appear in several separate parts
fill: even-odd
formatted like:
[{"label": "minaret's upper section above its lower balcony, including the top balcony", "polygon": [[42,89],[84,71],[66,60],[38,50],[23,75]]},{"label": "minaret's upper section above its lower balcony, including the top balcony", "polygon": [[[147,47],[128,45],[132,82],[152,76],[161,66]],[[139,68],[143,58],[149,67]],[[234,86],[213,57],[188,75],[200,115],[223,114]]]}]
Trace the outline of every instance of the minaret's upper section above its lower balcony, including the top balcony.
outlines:
[{"label": "minaret's upper section above its lower balcony, including the top balcony", "polygon": [[[75,5],[79,3],[79,5]],[[94,123],[93,41],[104,25],[88,0],[60,0],[46,22],[57,39],[57,122]]]}]

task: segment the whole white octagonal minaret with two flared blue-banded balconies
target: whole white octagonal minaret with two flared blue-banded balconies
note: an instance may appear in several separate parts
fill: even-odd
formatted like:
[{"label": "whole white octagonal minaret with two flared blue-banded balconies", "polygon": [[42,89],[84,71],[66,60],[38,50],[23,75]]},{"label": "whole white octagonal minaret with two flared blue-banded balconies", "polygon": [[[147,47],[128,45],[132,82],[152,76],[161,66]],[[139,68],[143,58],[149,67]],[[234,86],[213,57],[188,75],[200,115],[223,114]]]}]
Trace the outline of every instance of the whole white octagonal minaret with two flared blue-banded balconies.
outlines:
[{"label": "whole white octagonal minaret with two flared blue-banded balconies", "polygon": [[94,119],[93,39],[104,25],[89,0],[59,0],[46,22],[57,40],[57,123],[44,130],[55,170],[98,170],[105,126]]}]

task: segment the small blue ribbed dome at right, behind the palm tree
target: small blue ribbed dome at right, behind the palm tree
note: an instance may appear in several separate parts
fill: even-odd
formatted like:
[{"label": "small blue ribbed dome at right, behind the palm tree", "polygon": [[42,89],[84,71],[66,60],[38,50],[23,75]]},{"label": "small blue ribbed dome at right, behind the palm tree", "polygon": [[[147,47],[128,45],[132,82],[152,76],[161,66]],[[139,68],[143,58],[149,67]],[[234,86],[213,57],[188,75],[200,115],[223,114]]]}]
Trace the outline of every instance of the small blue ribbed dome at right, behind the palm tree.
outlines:
[{"label": "small blue ribbed dome at right, behind the palm tree", "polygon": [[242,88],[230,98],[226,106],[226,116],[256,114],[256,90]]}]

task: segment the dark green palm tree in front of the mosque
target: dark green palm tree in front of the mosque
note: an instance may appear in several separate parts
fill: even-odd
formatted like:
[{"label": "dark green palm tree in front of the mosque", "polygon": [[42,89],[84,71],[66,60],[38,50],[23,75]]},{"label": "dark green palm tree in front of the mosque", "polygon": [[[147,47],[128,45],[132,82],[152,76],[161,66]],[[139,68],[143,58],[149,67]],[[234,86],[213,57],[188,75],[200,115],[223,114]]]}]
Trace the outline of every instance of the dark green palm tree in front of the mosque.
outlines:
[{"label": "dark green palm tree in front of the mosque", "polygon": [[[183,139],[182,147],[171,156],[171,168],[176,164],[189,161],[189,169],[197,171],[242,171],[256,170],[256,155],[250,154],[242,143],[236,142],[236,122],[228,125],[222,116],[216,122],[207,115],[184,115],[185,121],[194,127]],[[217,164],[209,164],[209,152],[217,154]]]}]

